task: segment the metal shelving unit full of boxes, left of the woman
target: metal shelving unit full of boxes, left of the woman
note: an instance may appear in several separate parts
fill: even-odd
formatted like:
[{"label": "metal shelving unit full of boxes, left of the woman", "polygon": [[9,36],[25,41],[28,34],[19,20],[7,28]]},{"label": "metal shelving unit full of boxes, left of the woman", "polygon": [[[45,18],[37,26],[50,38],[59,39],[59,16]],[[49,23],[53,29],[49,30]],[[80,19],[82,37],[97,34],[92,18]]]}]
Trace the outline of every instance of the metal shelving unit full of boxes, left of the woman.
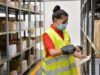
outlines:
[{"label": "metal shelving unit full of boxes, left of the woman", "polygon": [[[37,3],[39,5],[36,6]],[[32,5],[32,8],[30,8],[30,5]],[[39,53],[42,54],[42,45],[40,43],[40,47],[36,47],[36,44],[41,42],[41,34],[45,30],[43,5],[43,1],[37,0],[2,0],[0,2],[0,14],[3,14],[0,16],[0,29],[2,29],[2,31],[0,30],[0,75],[11,75],[11,72],[14,74],[17,72],[17,75],[29,75],[37,63],[40,62],[41,59],[37,59],[36,50],[39,49]],[[39,20],[35,23],[37,16]],[[10,28],[13,28],[10,27],[12,23],[18,29],[10,30]],[[26,29],[24,24],[27,27]],[[37,28],[40,31],[38,36],[36,36]],[[23,46],[23,41],[26,41],[26,46],[25,42]],[[9,46],[13,44],[16,45],[16,51],[18,52],[10,56]],[[23,47],[25,48],[23,49]],[[13,48],[10,50],[11,52],[13,52]],[[30,55],[33,59],[31,64]],[[24,71],[23,61],[26,62],[24,62],[24,67],[27,64]]]}]

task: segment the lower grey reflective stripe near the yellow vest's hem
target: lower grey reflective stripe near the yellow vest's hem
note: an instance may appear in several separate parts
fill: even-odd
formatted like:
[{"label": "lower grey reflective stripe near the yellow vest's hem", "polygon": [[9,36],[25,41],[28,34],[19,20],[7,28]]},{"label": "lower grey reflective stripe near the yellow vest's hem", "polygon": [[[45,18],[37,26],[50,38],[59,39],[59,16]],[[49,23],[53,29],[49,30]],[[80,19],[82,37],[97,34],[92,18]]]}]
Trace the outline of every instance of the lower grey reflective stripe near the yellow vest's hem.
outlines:
[{"label": "lower grey reflective stripe near the yellow vest's hem", "polygon": [[71,65],[68,66],[68,67],[63,67],[63,68],[56,69],[56,70],[53,70],[53,71],[47,71],[47,70],[44,70],[44,69],[42,69],[42,70],[43,70],[44,73],[46,73],[47,75],[55,75],[55,74],[57,74],[57,73],[59,73],[59,72],[68,71],[69,69],[75,68],[75,67],[76,67],[76,65],[73,63],[73,64],[71,64]]}]

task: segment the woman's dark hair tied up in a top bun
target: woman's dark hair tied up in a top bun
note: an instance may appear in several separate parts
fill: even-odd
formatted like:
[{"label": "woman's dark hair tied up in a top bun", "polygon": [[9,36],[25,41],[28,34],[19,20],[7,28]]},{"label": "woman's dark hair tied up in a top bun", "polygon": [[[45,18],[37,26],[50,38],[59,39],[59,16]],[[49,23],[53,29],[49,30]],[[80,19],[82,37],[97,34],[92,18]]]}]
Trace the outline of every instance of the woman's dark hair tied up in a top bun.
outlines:
[{"label": "woman's dark hair tied up in a top bun", "polygon": [[54,18],[61,19],[62,15],[68,16],[68,13],[65,12],[63,9],[60,9],[59,5],[55,6],[53,9],[52,20],[54,21]]}]

